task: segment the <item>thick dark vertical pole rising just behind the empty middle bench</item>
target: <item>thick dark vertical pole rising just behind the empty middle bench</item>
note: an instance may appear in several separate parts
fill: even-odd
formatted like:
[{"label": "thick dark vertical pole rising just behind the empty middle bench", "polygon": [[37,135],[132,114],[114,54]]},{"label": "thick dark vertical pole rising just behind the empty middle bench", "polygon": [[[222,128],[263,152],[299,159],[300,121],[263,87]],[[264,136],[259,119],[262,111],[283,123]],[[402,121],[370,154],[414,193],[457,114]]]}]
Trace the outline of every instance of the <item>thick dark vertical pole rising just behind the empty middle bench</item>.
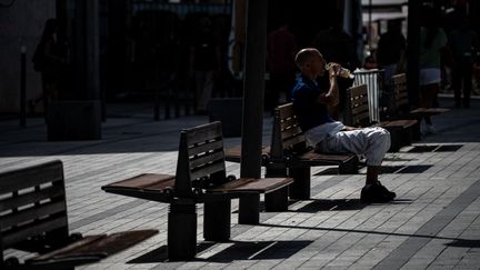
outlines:
[{"label": "thick dark vertical pole rising just behind the empty middle bench", "polygon": [[[247,3],[247,42],[243,83],[242,150],[240,176],[259,178],[263,129],[268,0]],[[259,194],[240,199],[239,223],[259,222]],[[252,212],[254,211],[254,212]]]}]

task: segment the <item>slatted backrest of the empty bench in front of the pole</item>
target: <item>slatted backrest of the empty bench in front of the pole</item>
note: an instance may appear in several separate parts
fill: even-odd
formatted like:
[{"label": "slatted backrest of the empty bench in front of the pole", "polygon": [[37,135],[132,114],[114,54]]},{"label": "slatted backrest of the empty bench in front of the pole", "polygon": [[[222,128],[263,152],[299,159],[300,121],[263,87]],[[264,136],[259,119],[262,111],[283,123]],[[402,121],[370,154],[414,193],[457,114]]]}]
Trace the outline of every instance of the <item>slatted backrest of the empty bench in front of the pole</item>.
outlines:
[{"label": "slatted backrest of the empty bench in front of the pole", "polygon": [[174,192],[193,196],[194,189],[227,181],[221,122],[211,122],[180,132]]}]

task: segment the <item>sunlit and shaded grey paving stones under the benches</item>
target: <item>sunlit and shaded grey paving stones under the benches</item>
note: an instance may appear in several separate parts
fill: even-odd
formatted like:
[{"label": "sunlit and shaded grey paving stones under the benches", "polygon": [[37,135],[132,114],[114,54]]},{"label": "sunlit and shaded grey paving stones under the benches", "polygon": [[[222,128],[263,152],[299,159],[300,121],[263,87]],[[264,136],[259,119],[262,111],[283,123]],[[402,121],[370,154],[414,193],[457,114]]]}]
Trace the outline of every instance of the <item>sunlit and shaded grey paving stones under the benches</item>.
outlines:
[{"label": "sunlit and shaded grey paving stones under the benches", "polygon": [[[442,99],[441,104],[452,104]],[[238,224],[232,238],[202,238],[194,261],[164,260],[168,206],[110,194],[100,187],[142,172],[174,173],[179,130],[207,117],[152,121],[129,111],[102,124],[96,141],[48,142],[42,119],[0,121],[0,171],[60,159],[64,164],[70,230],[83,234],[158,229],[160,233],[99,263],[78,269],[480,269],[480,100],[434,117],[437,133],[388,153],[380,180],[397,192],[391,203],[359,201],[364,169],[338,176],[312,170],[312,198],[289,211],[262,212],[258,226]],[[140,108],[141,109],[141,108]],[[264,118],[269,141],[271,117]],[[239,138],[227,139],[227,147]],[[228,163],[239,176],[239,164]],[[9,256],[28,254],[9,250]]]}]

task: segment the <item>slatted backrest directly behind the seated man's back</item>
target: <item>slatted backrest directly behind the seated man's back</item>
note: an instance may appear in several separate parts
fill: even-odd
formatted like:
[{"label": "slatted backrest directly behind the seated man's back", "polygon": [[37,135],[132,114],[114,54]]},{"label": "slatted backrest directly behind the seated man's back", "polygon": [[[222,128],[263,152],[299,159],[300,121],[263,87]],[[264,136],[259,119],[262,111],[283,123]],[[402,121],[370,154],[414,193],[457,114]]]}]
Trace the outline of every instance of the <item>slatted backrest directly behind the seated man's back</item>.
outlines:
[{"label": "slatted backrest directly behind the seated man's back", "polygon": [[293,112],[293,104],[287,103],[277,107],[270,146],[271,158],[283,159],[288,152],[303,152],[306,149],[306,138]]}]

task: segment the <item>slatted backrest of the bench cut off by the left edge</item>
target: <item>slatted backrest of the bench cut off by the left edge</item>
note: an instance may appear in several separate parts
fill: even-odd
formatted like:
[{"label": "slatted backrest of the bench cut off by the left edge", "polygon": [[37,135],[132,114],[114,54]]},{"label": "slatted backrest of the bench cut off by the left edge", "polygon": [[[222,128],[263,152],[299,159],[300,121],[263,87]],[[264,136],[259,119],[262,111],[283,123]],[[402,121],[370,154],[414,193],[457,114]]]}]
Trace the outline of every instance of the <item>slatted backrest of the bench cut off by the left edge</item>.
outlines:
[{"label": "slatted backrest of the bench cut off by the left edge", "polygon": [[[0,173],[0,264],[8,248],[34,250],[36,240],[61,246],[68,234],[61,161]],[[21,248],[26,242],[29,244]]]}]

